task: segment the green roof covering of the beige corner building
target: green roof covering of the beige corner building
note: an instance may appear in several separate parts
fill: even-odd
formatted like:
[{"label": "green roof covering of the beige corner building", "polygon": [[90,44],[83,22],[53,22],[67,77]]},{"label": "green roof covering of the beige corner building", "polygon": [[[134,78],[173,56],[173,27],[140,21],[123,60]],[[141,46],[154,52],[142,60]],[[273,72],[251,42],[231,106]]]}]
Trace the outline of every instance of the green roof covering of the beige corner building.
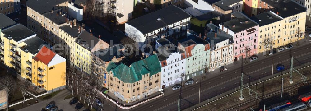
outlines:
[{"label": "green roof covering of the beige corner building", "polygon": [[114,77],[117,77],[125,83],[134,83],[142,80],[142,75],[150,73],[150,76],[161,72],[161,66],[156,54],[143,60],[134,62],[130,67],[121,63],[110,62],[107,71],[112,71]]}]

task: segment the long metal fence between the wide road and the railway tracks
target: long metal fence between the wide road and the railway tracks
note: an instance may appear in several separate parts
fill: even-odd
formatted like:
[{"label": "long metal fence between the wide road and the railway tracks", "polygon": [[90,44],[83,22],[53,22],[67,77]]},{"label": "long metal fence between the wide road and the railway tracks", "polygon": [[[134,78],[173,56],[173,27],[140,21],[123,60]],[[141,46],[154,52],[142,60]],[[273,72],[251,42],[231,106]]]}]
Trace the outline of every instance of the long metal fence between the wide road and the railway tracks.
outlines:
[{"label": "long metal fence between the wide road and the railway tracks", "polygon": [[[300,69],[304,69],[306,67],[311,66],[311,62],[309,63],[309,61],[307,61],[307,62],[304,62],[304,63],[301,63],[301,62],[300,63],[293,63],[293,66],[295,66],[294,68],[298,71]],[[274,69],[273,72],[276,72],[276,69]],[[274,73],[274,74],[272,74],[272,72],[271,72],[271,75],[262,77],[262,78],[260,78],[258,80],[255,80],[255,81],[250,81],[247,84],[244,84],[244,86],[253,86],[253,85],[262,83],[264,81],[268,81],[268,80],[271,80],[273,78],[276,78],[276,77],[279,77],[279,76],[282,76],[282,75],[285,75],[285,74],[289,74],[289,73],[290,73],[290,69],[284,70],[282,72],[277,72],[277,73]],[[294,73],[294,70],[293,70],[293,73]],[[245,81],[245,79],[243,81]],[[207,104],[210,104],[210,103],[212,103],[212,102],[214,102],[214,101],[216,101],[218,99],[222,99],[222,98],[224,98],[226,96],[229,96],[229,95],[231,95],[231,94],[233,94],[233,93],[235,93],[235,92],[237,92],[239,90],[240,90],[240,85],[236,85],[235,87],[233,86],[231,90],[227,90],[227,91],[225,91],[225,92],[223,92],[223,93],[221,93],[219,95],[213,96],[212,98],[208,98],[208,99],[206,99],[204,101],[201,101],[199,104],[194,104],[193,106],[190,106],[188,108],[183,108],[183,111],[193,111],[193,110],[199,109],[199,108],[201,108],[201,107],[203,107],[203,106],[205,106]]]}]

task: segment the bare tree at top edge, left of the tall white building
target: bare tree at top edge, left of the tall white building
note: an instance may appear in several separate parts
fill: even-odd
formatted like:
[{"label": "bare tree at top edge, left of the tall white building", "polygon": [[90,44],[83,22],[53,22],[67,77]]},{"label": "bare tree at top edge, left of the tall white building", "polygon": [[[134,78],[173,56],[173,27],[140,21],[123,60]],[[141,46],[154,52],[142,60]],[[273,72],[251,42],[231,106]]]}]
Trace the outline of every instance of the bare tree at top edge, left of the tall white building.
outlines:
[{"label": "bare tree at top edge, left of the tall white building", "polygon": [[99,0],[87,0],[86,2],[86,12],[93,18],[100,15],[102,6]]}]

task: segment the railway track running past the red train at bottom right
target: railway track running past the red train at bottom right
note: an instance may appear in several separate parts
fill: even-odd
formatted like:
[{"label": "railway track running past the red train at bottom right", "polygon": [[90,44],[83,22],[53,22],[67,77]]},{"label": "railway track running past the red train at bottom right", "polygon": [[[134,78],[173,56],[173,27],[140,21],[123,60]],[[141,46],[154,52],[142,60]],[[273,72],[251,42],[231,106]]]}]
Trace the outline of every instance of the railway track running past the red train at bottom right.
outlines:
[{"label": "railway track running past the red train at bottom right", "polygon": [[[309,81],[308,81],[309,82]],[[286,87],[283,89],[283,93],[287,92],[289,95],[291,94],[294,94],[297,92],[296,89],[298,89],[299,87],[301,86],[304,86],[308,83],[299,83],[297,85],[294,85],[294,86],[290,86],[290,87]],[[296,90],[296,91],[293,91],[293,90]],[[237,105],[234,105],[233,107],[230,107],[228,109],[224,109],[223,111],[235,111],[237,108],[245,105],[245,104],[249,104],[249,103],[252,103],[252,102],[256,102],[258,100],[262,100],[262,99],[265,99],[265,101],[273,101],[273,100],[276,100],[276,98],[271,98],[271,99],[267,99],[267,98],[270,98],[270,97],[273,97],[273,96],[276,96],[276,95],[279,95],[281,93],[281,90],[278,90],[278,91],[275,91],[273,93],[269,93],[267,95],[263,95],[263,96],[259,96],[257,99],[249,99],[243,103],[240,103],[240,104],[237,104]],[[288,96],[288,95],[287,95]],[[286,96],[283,96],[284,98],[286,98]],[[259,105],[263,105],[265,103],[260,103],[260,104],[254,104],[252,106],[250,106],[251,108],[254,108],[254,107],[258,107]],[[243,110],[240,110],[240,111],[248,111],[248,109],[243,109]]]}]

